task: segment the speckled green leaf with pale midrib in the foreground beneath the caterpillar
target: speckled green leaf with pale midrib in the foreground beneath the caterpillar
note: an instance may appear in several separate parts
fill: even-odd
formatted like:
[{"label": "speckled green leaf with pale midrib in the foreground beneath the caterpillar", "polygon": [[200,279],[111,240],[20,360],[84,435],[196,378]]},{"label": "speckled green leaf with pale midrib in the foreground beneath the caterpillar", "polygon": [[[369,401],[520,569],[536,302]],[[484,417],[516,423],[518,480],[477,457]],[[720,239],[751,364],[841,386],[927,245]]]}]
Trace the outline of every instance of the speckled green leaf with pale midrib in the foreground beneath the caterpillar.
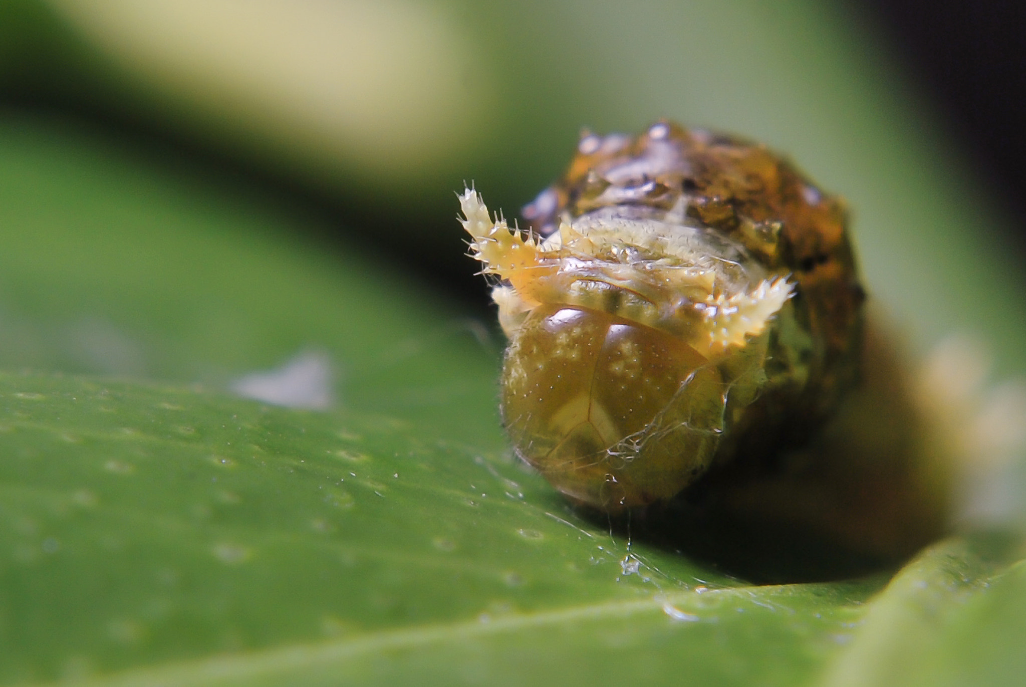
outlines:
[{"label": "speckled green leaf with pale midrib in the foreground beneath the caterpillar", "polygon": [[785,684],[874,588],[746,587],[628,547],[503,456],[388,417],[52,376],[5,375],[0,397],[4,683],[581,684],[643,666]]}]

